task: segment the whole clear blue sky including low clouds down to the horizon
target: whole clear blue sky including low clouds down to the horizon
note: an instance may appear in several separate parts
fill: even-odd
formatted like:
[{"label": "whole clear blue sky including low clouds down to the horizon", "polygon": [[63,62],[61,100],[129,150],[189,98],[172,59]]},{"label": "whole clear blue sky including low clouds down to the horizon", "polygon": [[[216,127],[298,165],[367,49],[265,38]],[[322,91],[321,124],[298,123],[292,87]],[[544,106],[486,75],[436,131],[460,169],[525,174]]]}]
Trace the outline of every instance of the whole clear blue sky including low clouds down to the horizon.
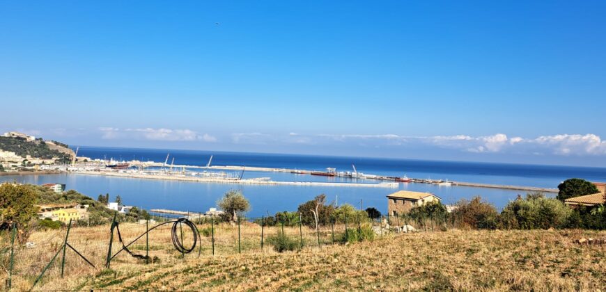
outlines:
[{"label": "whole clear blue sky including low clouds down to the horizon", "polygon": [[604,15],[604,1],[2,1],[0,130],[604,165]]}]

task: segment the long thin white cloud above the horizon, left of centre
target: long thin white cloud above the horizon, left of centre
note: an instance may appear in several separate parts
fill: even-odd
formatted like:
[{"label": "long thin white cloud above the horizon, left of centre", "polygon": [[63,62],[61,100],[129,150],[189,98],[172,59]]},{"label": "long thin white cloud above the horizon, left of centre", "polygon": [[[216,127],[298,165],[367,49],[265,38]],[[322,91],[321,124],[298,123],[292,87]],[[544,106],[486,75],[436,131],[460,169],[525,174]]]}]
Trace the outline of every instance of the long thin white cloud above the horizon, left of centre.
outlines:
[{"label": "long thin white cloud above the horizon, left of centre", "polygon": [[196,131],[189,129],[154,129],[154,128],[139,128],[139,129],[118,129],[112,127],[101,127],[103,139],[118,139],[132,138],[139,140],[156,140],[156,141],[196,141],[216,142],[217,138],[205,133],[199,135]]}]

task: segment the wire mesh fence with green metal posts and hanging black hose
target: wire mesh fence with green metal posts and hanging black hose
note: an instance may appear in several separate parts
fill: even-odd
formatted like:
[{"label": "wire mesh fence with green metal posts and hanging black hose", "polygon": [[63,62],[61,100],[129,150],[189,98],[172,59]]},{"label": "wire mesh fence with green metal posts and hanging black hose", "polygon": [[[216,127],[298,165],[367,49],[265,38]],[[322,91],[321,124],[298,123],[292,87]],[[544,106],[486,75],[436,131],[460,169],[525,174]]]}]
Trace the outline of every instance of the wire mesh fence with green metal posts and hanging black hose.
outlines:
[{"label": "wire mesh fence with green metal posts and hanging black hose", "polygon": [[315,224],[304,225],[301,220],[277,222],[265,217],[225,221],[191,213],[182,218],[187,220],[155,215],[139,222],[93,227],[70,225],[33,232],[26,243],[14,244],[11,236],[15,229],[8,228],[0,232],[3,283],[7,288],[35,288],[44,286],[49,279],[93,275],[104,268],[176,263],[215,255],[304,250],[344,243],[352,236],[363,236],[364,232],[380,237],[448,227],[448,222],[437,218],[412,220],[405,216],[329,218],[317,229]]}]

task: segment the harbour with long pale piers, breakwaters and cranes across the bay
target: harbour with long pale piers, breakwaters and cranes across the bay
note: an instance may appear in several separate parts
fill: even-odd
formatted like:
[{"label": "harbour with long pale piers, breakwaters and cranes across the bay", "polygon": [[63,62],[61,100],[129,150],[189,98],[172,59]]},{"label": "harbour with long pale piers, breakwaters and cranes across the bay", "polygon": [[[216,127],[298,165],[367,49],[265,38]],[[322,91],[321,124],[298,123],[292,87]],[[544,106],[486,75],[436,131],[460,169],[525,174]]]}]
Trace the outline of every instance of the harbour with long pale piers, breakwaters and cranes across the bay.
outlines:
[{"label": "harbour with long pale piers, breakwaters and cranes across the bay", "polygon": [[[398,188],[400,184],[433,184],[440,187],[466,186],[472,188],[498,188],[504,190],[523,190],[529,192],[557,193],[557,188],[537,186],[518,186],[513,184],[485,184],[467,181],[449,181],[448,179],[421,179],[403,175],[373,175],[359,172],[355,165],[351,171],[337,171],[326,168],[325,171],[304,170],[299,168],[270,168],[243,165],[212,165],[212,155],[205,165],[175,164],[175,157],[166,155],[164,162],[156,161],[114,161],[114,159],[78,159],[71,165],[65,165],[65,172],[82,175],[107,175],[113,177],[130,177],[137,179],[164,179],[177,181],[194,181],[220,184],[254,184],[254,185],[288,185],[288,186],[345,186],[360,188]],[[84,162],[86,161],[86,162]],[[51,168],[49,168],[51,169]],[[57,169],[56,166],[53,169]],[[276,180],[272,177],[244,177],[244,172],[278,172],[290,174],[287,179]],[[327,181],[305,181],[304,176],[325,177]],[[299,179],[297,181],[293,179]],[[339,179],[340,181],[331,181]]]}]

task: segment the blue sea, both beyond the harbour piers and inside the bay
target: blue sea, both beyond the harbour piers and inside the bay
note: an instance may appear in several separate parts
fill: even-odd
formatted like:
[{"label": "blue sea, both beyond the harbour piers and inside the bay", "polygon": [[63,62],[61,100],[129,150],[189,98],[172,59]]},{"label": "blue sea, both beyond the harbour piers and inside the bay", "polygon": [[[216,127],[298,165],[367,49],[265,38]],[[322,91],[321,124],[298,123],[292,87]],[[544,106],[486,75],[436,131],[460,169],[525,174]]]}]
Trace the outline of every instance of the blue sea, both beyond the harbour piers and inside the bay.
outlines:
[{"label": "blue sea, both beyond the harbour piers and inside the bay", "polygon": [[[345,156],[313,156],[298,154],[265,154],[243,152],[217,152],[178,149],[139,149],[118,147],[80,146],[78,156],[91,159],[114,159],[164,162],[177,165],[206,165],[212,156],[212,165],[241,165],[264,168],[291,168],[300,170],[352,171],[368,175],[387,175],[417,178],[465,181],[483,184],[502,184],[515,186],[536,186],[557,188],[558,184],[571,177],[580,177],[589,181],[606,181],[606,168],[587,168],[554,165],[527,165],[507,163],[477,163],[457,161],[429,161],[412,159],[377,159]],[[192,168],[192,171],[200,171]],[[213,170],[221,171],[221,170]],[[229,171],[226,171],[229,172]],[[336,181],[375,183],[363,179],[345,179],[339,177],[318,177],[295,175],[286,172],[237,171],[229,175],[242,178],[270,177],[274,181]],[[173,181],[159,179],[137,179],[127,177],[104,177],[98,175],[20,175],[1,176],[0,181],[18,181],[29,184],[59,183],[66,184],[90,197],[109,193],[113,200],[120,195],[127,205],[143,209],[171,209],[178,211],[204,212],[216,207],[216,202],[228,190],[240,190],[251,203],[247,216],[260,217],[278,211],[296,211],[297,206],[325,194],[329,202],[352,204],[366,209],[373,206],[387,213],[386,195],[397,190],[414,190],[434,193],[445,204],[454,204],[459,200],[470,200],[480,196],[483,200],[502,209],[523,190],[502,190],[497,188],[475,188],[464,186],[437,186],[433,184],[399,184],[397,188],[360,188],[351,186],[273,186],[201,183],[192,181]],[[555,194],[549,193],[549,196]]]}]

